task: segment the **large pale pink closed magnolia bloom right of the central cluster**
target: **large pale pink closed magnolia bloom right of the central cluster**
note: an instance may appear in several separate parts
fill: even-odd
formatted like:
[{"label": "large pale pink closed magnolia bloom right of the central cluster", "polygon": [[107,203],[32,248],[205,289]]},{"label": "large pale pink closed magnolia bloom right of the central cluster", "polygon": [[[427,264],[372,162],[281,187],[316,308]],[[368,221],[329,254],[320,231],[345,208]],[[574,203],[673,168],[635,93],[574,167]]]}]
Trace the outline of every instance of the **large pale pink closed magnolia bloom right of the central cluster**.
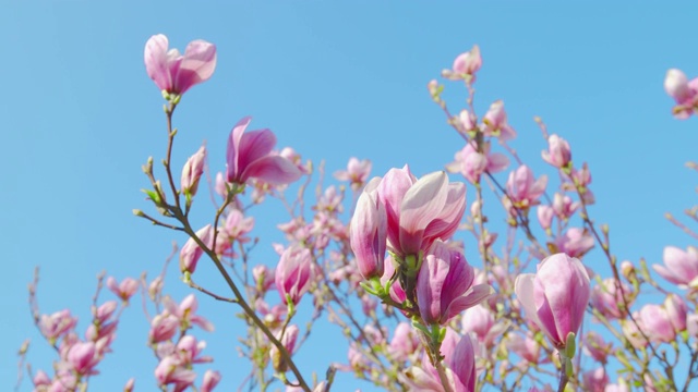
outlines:
[{"label": "large pale pink closed magnolia bloom right of the central cluster", "polygon": [[565,346],[569,333],[579,331],[591,294],[587,269],[565,254],[543,259],[534,274],[519,274],[515,291],[526,316],[557,348]]}]

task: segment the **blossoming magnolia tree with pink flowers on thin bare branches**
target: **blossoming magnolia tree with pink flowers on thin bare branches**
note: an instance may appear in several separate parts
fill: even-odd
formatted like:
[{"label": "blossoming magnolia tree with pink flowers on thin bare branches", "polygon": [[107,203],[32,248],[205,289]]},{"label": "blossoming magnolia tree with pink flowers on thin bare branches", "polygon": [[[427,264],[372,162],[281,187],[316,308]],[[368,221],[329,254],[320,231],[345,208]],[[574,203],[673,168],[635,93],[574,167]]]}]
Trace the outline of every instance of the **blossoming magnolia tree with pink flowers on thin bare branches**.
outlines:
[{"label": "blossoming magnolia tree with pink flowers on thin bare branches", "polygon": [[[250,118],[232,127],[225,168],[207,164],[205,147],[183,168],[174,167],[174,111],[191,87],[214,73],[216,48],[196,40],[181,54],[169,49],[164,35],[153,36],[145,46],[145,69],[166,101],[167,152],[163,168],[155,170],[152,158],[143,167],[151,206],[134,213],[188,236],[178,250],[179,270],[192,293],[180,302],[165,294],[165,273],[120,282],[100,277],[93,320],[81,331],[69,309],[40,313],[35,280],[32,314],[57,354],[52,369],[29,368],[35,390],[86,390],[111,352],[121,313],[139,291],[157,311],[144,331],[156,358],[154,379],[139,381],[146,389],[206,392],[216,387],[222,375],[208,365],[213,358],[196,338],[200,330],[213,330],[197,314],[197,301],[215,299],[229,303],[246,324],[241,351],[252,376],[239,381],[241,388],[342,391],[333,380],[336,371],[346,371],[389,391],[518,390],[522,384],[535,385],[531,391],[690,390],[698,377],[698,249],[666,246],[664,265],[651,268],[643,260],[618,262],[609,228],[597,224],[589,210],[594,204],[589,166],[573,161],[570,145],[537,119],[546,140],[541,158],[550,164],[546,174],[537,175],[512,147],[516,132],[503,101],[484,115],[476,113],[473,86],[481,64],[476,46],[443,71],[444,84],[428,85],[462,138],[453,162],[435,162],[434,172],[419,177],[406,164],[370,179],[371,161],[351,158],[334,174],[341,185],[320,182],[320,192],[311,194],[306,189],[322,167],[315,169],[291,148],[275,150],[274,133],[248,130]],[[465,87],[466,106],[458,113],[442,98],[446,84]],[[698,78],[689,82],[682,71],[670,70],[665,89],[676,101],[677,119],[698,112]],[[495,152],[496,145],[502,152]],[[220,170],[210,185],[215,213],[209,224],[195,228],[190,222],[194,207],[209,204],[198,195],[208,169]],[[296,182],[298,196],[290,203],[285,191]],[[282,199],[291,215],[278,224],[287,242],[276,246],[275,268],[255,264],[246,245],[254,226],[249,212],[257,210],[249,207],[268,198]],[[303,212],[306,205],[312,205],[310,215]],[[350,220],[345,210],[351,211]],[[698,207],[686,213],[698,220]],[[465,249],[462,237],[470,235],[478,245]],[[504,244],[498,249],[497,240]],[[585,255],[593,247],[601,248],[609,275],[589,268]],[[210,282],[196,279],[200,262],[215,265],[229,290],[213,292]],[[104,284],[113,299],[101,299]],[[664,301],[643,297],[650,290]],[[300,316],[301,307],[312,308],[311,316]],[[302,373],[294,353],[321,318],[346,339],[347,360]],[[22,360],[25,353],[26,344]],[[589,357],[583,366],[582,356]],[[134,390],[134,380],[123,389]]]}]

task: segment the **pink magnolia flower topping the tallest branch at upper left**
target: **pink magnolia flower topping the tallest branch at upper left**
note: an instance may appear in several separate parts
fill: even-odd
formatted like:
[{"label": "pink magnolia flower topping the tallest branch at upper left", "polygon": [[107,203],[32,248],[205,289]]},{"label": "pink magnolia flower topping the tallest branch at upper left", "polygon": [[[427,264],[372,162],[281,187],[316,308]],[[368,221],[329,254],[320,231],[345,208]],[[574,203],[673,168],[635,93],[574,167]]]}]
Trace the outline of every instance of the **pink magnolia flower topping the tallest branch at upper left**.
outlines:
[{"label": "pink magnolia flower topping the tallest branch at upper left", "polygon": [[206,82],[216,69],[216,46],[194,40],[184,56],[169,49],[163,34],[154,35],[145,44],[145,70],[160,90],[182,95],[192,86]]}]

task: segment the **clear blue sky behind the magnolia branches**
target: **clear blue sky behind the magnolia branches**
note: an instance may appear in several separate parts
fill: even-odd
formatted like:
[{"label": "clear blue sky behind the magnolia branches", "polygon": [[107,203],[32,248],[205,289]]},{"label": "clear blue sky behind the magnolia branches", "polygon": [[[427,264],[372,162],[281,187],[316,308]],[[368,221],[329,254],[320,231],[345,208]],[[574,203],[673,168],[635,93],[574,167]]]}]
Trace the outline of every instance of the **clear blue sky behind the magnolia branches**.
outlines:
[{"label": "clear blue sky behind the magnolia branches", "polygon": [[[41,310],[70,307],[84,330],[99,271],[153,277],[171,241],[184,240],[131,215],[147,207],[141,164],[165,152],[161,97],[143,65],[153,34],[168,35],[179,48],[196,38],[218,48],[213,78],[188,91],[176,114],[174,162],[206,140],[212,167],[221,170],[230,127],[250,114],[253,126],[275,131],[279,146],[324,159],[330,172],[357,156],[372,159],[376,175],[405,163],[422,175],[452,161],[461,140],[425,85],[478,44],[484,59],[479,114],[504,99],[519,134],[514,146],[535,162],[537,174],[552,174],[540,162],[544,143],[532,121],[542,117],[569,140],[576,163],[590,163],[599,200],[591,213],[610,224],[613,252],[654,262],[664,245],[690,243],[663,213],[678,215],[695,201],[696,176],[683,164],[696,158],[698,128],[695,119],[672,119],[662,82],[669,68],[698,75],[690,44],[697,11],[688,2],[4,2],[1,389],[14,384],[13,353],[27,336],[35,367],[50,366],[26,305],[35,266],[41,267]],[[446,97],[457,111],[464,91],[447,84]],[[269,208],[257,209],[255,234],[279,241]],[[202,212],[194,221],[206,218]],[[261,259],[273,257],[269,244],[262,243]],[[598,252],[586,261],[605,262]],[[189,290],[177,275],[172,268],[167,289],[182,298]],[[237,387],[246,364],[234,354],[233,310],[202,302],[217,327],[207,341],[224,372],[220,389]],[[95,390],[132,376],[136,388],[152,389],[156,363],[144,345],[146,328],[139,306],[128,309]],[[327,353],[327,362],[311,359],[337,333],[317,332],[299,353],[308,375],[346,360],[344,350]]]}]

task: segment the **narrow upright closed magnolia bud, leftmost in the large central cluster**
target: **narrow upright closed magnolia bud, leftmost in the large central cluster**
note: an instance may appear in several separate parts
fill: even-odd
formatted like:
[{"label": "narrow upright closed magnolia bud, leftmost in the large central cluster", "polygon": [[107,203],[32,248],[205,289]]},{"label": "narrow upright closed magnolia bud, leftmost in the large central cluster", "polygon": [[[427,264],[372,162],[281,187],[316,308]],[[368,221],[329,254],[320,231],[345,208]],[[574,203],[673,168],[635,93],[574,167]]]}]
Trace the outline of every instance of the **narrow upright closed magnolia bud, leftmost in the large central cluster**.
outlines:
[{"label": "narrow upright closed magnolia bud, leftmost in the large central cluster", "polygon": [[364,191],[351,218],[349,240],[364,279],[383,275],[388,221],[377,192]]}]

